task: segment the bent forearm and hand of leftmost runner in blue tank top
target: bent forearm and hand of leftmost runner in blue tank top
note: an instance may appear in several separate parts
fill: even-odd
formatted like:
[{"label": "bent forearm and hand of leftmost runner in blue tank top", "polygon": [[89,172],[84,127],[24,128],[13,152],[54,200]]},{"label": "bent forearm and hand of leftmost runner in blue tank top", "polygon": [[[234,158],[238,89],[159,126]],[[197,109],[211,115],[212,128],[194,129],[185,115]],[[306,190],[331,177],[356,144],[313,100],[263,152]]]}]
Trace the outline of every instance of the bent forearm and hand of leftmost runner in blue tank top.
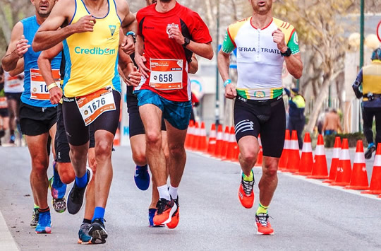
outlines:
[{"label": "bent forearm and hand of leftmost runner in blue tank top", "polygon": [[18,61],[28,51],[30,45],[28,45],[28,40],[25,39],[23,33],[23,23],[16,23],[11,33],[11,42],[9,42],[6,54],[3,59],[1,59],[4,71],[16,69]]}]

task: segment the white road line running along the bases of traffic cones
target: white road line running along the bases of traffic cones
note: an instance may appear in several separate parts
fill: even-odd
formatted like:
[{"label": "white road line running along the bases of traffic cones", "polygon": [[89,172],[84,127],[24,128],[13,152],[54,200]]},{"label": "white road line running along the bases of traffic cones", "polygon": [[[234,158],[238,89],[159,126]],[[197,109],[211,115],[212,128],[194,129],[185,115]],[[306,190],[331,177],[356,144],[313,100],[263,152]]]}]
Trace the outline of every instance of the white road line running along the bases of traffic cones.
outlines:
[{"label": "white road line running along the bases of traffic cones", "polygon": [[[212,157],[210,155],[207,155],[205,153],[200,153],[200,152],[195,152],[195,151],[191,151],[191,153],[198,154],[198,155],[200,155],[202,157],[205,157],[205,158],[212,158],[214,160],[220,160],[221,161],[220,158],[214,158],[214,157]],[[233,162],[233,161],[224,161],[224,162],[239,165],[239,163]],[[261,168],[261,167],[260,166],[255,166],[254,168]],[[302,176],[302,175],[293,175],[292,173],[283,173],[283,172],[280,172],[280,171],[278,171],[278,173],[281,173],[282,175],[286,175],[286,176],[289,176],[289,177],[294,177],[294,178],[296,178],[298,180],[303,180],[303,181],[306,181],[306,182],[310,182],[310,183],[313,183],[315,185],[320,185],[322,187],[329,187],[329,188],[332,188],[332,189],[337,189],[337,190],[339,190],[341,192],[348,192],[349,194],[356,194],[356,195],[360,195],[362,197],[367,197],[369,199],[375,199],[375,200],[381,201],[381,198],[377,198],[378,194],[361,194],[361,192],[363,190],[344,189],[343,187],[339,187],[339,186],[330,186],[327,183],[323,183],[322,180],[307,179],[307,177]]]}]

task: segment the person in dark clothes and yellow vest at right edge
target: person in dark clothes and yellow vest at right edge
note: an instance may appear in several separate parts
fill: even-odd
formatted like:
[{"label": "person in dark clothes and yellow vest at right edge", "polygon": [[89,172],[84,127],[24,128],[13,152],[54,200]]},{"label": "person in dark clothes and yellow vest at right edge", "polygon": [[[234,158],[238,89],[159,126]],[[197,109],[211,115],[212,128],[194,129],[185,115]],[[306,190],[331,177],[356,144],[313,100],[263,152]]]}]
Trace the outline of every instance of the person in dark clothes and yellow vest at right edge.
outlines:
[{"label": "person in dark clothes and yellow vest at right edge", "polygon": [[[363,98],[363,128],[368,150],[365,158],[372,158],[376,145],[381,143],[381,48],[372,53],[372,63],[364,66],[358,73],[352,88],[356,98]],[[373,141],[373,117],[375,117],[376,136]]]}]

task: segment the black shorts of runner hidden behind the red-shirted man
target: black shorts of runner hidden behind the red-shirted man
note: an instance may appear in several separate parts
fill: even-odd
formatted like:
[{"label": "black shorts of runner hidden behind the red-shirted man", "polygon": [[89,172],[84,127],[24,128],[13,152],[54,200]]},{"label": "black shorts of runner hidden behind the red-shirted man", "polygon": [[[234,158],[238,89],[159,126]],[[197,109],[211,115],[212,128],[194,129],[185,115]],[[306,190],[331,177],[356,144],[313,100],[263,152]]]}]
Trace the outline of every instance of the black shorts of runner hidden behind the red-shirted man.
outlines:
[{"label": "black shorts of runner hidden behind the red-shirted man", "polygon": [[[145,134],[144,125],[139,113],[138,98],[133,94],[133,86],[127,86],[127,112],[130,122],[130,138]],[[162,118],[162,131],[166,131],[164,118]]]}]

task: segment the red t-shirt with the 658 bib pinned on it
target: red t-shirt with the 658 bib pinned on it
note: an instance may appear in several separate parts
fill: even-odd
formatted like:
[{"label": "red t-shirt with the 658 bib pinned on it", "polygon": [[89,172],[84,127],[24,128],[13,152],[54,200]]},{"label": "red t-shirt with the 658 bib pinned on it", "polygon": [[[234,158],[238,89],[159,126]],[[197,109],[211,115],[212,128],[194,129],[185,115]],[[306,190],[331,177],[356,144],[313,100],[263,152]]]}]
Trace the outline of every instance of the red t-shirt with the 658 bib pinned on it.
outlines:
[{"label": "red t-shirt with the 658 bib pinned on it", "polygon": [[[155,7],[156,4],[152,4],[142,8],[136,14],[138,35],[144,40],[144,56],[147,59],[145,66],[151,69],[151,73],[148,73],[148,79],[142,77],[135,91],[149,89],[167,100],[181,102],[191,100],[187,59],[191,59],[192,52],[169,38],[167,26],[172,23],[179,25],[184,37],[198,43],[212,42],[212,37],[207,25],[198,13],[191,9],[176,3],[171,11],[160,13],[155,10]],[[155,88],[152,87],[153,82],[155,82]]]}]

